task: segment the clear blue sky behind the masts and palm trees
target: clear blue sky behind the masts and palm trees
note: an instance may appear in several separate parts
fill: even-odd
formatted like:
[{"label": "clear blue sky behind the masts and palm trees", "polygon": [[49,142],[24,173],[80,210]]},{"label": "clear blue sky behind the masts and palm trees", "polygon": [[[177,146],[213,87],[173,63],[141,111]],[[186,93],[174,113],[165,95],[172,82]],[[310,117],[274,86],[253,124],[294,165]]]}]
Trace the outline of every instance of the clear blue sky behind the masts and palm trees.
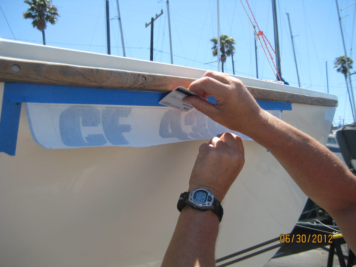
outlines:
[{"label": "clear blue sky behind the masts and palm trees", "polygon": [[[242,1],[247,8],[246,0]],[[274,48],[271,0],[248,0],[258,26]],[[327,91],[328,63],[329,92],[339,99],[334,124],[351,123],[352,115],[344,76],[333,68],[335,57],[344,49],[334,0],[276,0],[282,77],[298,86],[292,43],[286,12],[289,13],[295,52],[302,88]],[[355,0],[339,0],[342,9]],[[116,0],[110,0],[111,54],[122,56]],[[46,41],[49,46],[106,53],[105,0],[53,0],[61,15],[56,25],[48,25]],[[150,59],[150,27],[145,23],[163,10],[154,24],[155,49],[153,60],[171,63],[166,0],[119,0],[125,51],[127,57]],[[22,0],[0,0],[0,37],[30,43],[42,43],[42,34],[25,20],[22,13],[28,5]],[[170,0],[173,63],[201,69],[217,70],[212,56],[210,39],[217,36],[216,0]],[[356,4],[340,11],[347,54],[355,62]],[[250,14],[251,20],[253,20]],[[5,19],[6,18],[6,19]],[[235,74],[256,78],[254,36],[247,15],[239,0],[220,0],[220,32],[236,40]],[[355,41],[355,42],[354,42]],[[352,49],[351,49],[352,48]],[[274,79],[262,49],[257,49],[258,76]],[[205,64],[208,63],[208,64]],[[355,66],[355,64],[354,64]],[[355,72],[356,67],[352,69]],[[225,72],[232,74],[231,57]],[[351,76],[356,79],[356,74]],[[356,87],[354,81],[353,87]],[[356,90],[354,90],[356,93]]]}]

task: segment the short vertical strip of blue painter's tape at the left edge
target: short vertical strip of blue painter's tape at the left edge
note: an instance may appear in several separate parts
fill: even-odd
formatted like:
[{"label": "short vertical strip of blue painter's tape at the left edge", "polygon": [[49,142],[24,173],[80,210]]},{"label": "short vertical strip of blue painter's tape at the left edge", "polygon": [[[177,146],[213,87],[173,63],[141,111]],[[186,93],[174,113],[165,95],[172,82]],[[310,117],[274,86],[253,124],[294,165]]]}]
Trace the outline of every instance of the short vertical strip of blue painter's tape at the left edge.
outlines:
[{"label": "short vertical strip of blue painter's tape at the left edge", "polygon": [[4,93],[0,118],[0,152],[15,156],[21,103],[11,102]]}]

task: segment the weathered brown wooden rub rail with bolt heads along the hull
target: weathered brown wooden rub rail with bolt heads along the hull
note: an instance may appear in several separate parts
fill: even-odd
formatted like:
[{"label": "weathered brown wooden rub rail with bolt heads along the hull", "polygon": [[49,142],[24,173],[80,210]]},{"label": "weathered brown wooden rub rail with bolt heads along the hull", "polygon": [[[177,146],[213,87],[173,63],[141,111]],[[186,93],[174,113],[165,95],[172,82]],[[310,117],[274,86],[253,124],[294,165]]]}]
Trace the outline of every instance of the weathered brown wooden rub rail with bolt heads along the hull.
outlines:
[{"label": "weathered brown wooden rub rail with bolt heads along the hull", "polygon": [[[188,88],[194,80],[171,75],[0,57],[1,82],[169,92],[178,86]],[[246,87],[257,100],[337,106],[337,101],[332,99]]]}]

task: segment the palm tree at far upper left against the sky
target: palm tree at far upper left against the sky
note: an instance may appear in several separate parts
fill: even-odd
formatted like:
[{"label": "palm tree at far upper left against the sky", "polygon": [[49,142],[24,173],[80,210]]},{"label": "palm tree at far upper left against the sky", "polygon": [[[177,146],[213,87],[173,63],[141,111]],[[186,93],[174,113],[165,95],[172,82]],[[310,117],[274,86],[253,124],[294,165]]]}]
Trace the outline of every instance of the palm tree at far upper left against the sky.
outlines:
[{"label": "palm tree at far upper left against the sky", "polygon": [[57,6],[52,6],[52,0],[25,0],[30,7],[23,12],[24,19],[33,19],[32,26],[42,32],[43,45],[46,45],[45,30],[47,22],[56,24],[60,15],[57,12]]}]

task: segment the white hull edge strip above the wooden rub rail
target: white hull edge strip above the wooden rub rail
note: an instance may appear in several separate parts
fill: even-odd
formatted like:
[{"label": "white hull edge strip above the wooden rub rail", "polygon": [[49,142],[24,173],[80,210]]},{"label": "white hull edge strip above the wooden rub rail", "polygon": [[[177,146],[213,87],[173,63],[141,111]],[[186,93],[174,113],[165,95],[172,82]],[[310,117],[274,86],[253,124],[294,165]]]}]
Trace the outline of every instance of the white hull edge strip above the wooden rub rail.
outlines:
[{"label": "white hull edge strip above the wooden rub rail", "polygon": [[[3,57],[22,58],[29,60],[57,62],[74,64],[80,66],[124,69],[136,72],[158,73],[165,75],[200,78],[206,72],[204,69],[177,66],[167,63],[146,61],[127,57],[111,56],[106,54],[77,51],[66,48],[35,45],[17,41],[4,40],[0,38],[0,51]],[[28,52],[31,51],[31,52]],[[288,91],[291,93],[305,94],[316,97],[325,97],[337,100],[334,95],[320,91],[313,91],[294,86],[286,86],[279,83],[267,82],[264,80],[231,75],[242,80],[245,85],[274,90]]]}]

